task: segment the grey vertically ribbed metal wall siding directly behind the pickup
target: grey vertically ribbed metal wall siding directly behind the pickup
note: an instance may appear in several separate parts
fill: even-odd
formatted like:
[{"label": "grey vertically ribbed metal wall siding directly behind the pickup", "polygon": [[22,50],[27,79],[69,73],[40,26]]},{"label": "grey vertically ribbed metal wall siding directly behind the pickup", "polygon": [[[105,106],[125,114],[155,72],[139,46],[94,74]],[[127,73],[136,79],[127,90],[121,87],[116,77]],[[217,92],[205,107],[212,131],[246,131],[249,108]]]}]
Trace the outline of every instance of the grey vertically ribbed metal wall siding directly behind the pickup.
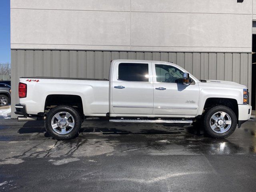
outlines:
[{"label": "grey vertically ribbed metal wall siding directly behind the pickup", "polygon": [[19,77],[108,78],[110,61],[114,59],[174,62],[198,79],[234,81],[251,90],[251,53],[12,50],[12,117],[16,117],[13,112],[18,102]]}]

